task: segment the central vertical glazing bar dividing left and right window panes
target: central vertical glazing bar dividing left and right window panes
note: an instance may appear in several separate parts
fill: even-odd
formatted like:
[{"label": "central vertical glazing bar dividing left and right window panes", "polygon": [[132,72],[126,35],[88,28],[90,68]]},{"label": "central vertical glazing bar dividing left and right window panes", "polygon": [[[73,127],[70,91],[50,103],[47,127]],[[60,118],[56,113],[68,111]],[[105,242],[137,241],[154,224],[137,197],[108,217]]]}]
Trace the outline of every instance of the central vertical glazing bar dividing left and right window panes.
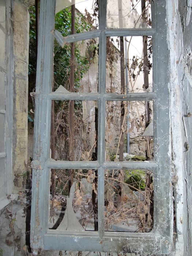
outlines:
[{"label": "central vertical glazing bar dividing left and right window panes", "polygon": [[[99,1],[99,29],[106,28],[106,0]],[[105,71],[106,70],[106,37],[105,31],[99,35],[99,84],[98,92],[101,98],[98,102],[98,162],[102,164],[105,161],[105,100],[102,98],[105,94]],[[104,170],[98,170],[98,233],[102,239],[105,231],[104,220]]]}]

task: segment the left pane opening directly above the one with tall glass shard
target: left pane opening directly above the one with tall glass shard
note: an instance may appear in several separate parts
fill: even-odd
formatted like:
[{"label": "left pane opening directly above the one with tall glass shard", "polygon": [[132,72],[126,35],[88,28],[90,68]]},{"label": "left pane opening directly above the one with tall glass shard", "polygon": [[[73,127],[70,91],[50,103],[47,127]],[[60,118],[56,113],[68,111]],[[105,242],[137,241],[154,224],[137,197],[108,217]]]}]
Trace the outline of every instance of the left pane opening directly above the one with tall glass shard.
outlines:
[{"label": "left pane opening directly above the one with tall glass shard", "polygon": [[54,101],[52,158],[63,161],[96,161],[97,101]]}]

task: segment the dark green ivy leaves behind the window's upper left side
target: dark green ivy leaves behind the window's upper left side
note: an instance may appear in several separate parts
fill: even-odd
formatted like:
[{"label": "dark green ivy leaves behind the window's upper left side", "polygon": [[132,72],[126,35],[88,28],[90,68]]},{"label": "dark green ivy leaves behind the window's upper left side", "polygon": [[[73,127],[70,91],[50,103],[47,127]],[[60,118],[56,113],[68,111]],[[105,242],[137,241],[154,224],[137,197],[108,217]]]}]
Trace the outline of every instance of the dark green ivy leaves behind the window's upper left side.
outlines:
[{"label": "dark green ivy leaves behind the window's upper left side", "polygon": [[[36,78],[36,53],[35,53],[35,7],[29,8],[30,14],[30,32],[29,32],[29,93],[35,90]],[[71,8],[65,8],[58,12],[55,16],[55,29],[60,31],[65,37],[71,33]],[[75,14],[75,31],[81,33],[92,29],[92,25],[88,22],[80,12]],[[67,90],[69,89],[70,74],[70,56],[71,45],[66,44],[63,48],[54,40],[54,90],[60,84]],[[89,69],[90,58],[82,56],[80,52],[80,43],[75,43],[75,91],[78,90],[83,78],[83,74]],[[79,104],[75,103],[75,106]],[[33,108],[33,104],[29,95],[29,109]],[[33,121],[33,117],[29,112],[29,121]]]}]

